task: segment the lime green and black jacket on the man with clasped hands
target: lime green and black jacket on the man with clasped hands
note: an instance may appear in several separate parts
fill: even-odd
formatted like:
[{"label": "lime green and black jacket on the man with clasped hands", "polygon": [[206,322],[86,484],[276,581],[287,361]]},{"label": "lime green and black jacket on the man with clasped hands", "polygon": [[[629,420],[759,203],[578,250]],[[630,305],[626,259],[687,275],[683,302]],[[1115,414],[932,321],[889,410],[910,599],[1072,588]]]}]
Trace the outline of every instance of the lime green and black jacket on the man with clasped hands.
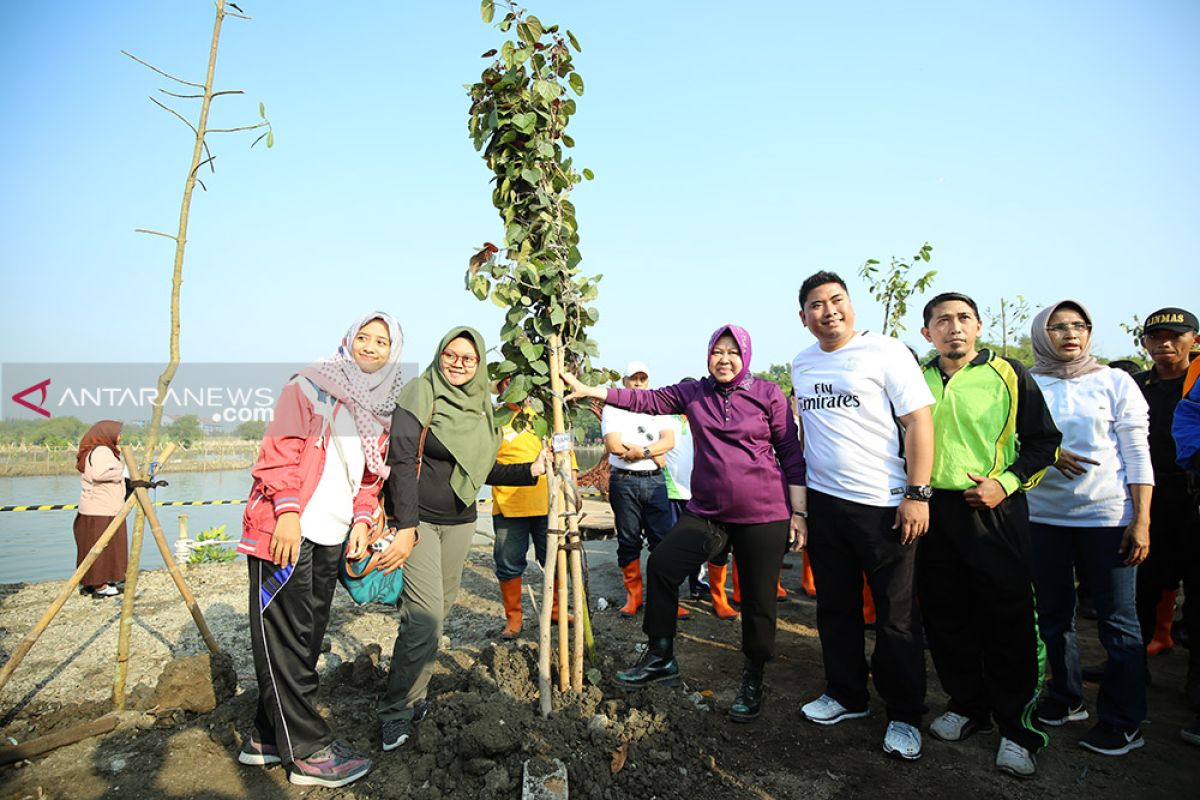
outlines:
[{"label": "lime green and black jacket on the man with clasped hands", "polygon": [[1058,457],[1062,433],[1025,367],[980,350],[947,378],[925,365],[934,392],[935,489],[970,489],[967,473],[994,477],[1008,494],[1028,492]]}]

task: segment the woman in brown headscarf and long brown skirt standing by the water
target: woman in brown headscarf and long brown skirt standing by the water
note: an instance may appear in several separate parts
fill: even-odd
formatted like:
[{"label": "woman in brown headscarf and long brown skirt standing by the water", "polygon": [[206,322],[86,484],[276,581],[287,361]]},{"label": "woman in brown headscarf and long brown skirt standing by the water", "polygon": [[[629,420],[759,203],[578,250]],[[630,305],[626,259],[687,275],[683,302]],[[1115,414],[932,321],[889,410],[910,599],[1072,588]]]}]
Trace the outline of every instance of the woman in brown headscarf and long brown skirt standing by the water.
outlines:
[{"label": "woman in brown headscarf and long brown skirt standing by the water", "polygon": [[[79,470],[79,512],[74,519],[76,566],[83,564],[89,551],[113,522],[125,504],[125,465],[116,449],[121,441],[121,423],[101,420],[88,429],[79,441],[76,469]],[[125,521],[109,540],[104,552],[79,582],[79,591],[95,599],[121,594],[118,581],[125,579],[128,563],[128,534]]]}]

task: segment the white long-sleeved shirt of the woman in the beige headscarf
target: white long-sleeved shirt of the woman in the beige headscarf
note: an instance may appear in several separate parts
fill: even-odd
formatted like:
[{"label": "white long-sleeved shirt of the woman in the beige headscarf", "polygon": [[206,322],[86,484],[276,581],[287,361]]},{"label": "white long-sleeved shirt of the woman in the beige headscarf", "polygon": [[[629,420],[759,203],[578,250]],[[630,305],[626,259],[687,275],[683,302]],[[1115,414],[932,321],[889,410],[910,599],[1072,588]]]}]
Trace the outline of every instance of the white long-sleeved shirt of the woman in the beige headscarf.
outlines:
[{"label": "white long-sleeved shirt of the woman in the beige headscarf", "polygon": [[1068,481],[1051,467],[1028,493],[1030,519],[1066,528],[1117,528],[1133,522],[1130,483],[1153,486],[1150,407],[1121,369],[1064,380],[1033,375],[1062,431],[1062,449],[1098,461]]}]

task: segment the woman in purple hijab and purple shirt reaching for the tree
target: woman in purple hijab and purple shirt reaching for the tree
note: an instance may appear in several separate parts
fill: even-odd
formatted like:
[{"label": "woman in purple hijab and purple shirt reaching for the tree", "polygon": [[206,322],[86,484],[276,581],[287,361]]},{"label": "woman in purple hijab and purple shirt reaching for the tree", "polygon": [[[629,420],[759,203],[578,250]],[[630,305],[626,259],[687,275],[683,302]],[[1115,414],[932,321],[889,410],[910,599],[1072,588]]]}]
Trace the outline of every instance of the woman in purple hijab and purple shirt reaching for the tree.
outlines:
[{"label": "woman in purple hijab and purple shirt reaching for the tree", "polygon": [[617,673],[626,688],[679,681],[674,658],[678,589],[732,546],[742,585],[742,688],[730,717],[762,710],[763,666],[775,654],[775,584],[790,542],[804,528],[804,456],[787,398],[750,374],[750,335],[722,325],[708,342],[708,378],[662,389],[601,389],[564,375],[568,399],[595,398],[641,414],[686,414],[695,441],[692,499],[650,553],[643,631],[649,646]]}]

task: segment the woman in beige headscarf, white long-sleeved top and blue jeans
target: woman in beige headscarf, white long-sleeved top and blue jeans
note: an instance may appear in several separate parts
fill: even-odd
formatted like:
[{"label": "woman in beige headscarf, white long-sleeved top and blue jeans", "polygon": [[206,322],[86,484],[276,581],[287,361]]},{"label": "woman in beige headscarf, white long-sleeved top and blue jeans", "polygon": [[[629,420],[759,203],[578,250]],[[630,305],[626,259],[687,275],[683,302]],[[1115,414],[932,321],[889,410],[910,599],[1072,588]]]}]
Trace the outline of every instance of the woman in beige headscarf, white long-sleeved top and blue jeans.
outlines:
[{"label": "woman in beige headscarf, white long-sleeved top and blue jeans", "polygon": [[[1066,300],[1033,319],[1034,366],[1062,449],[1030,493],[1038,622],[1051,679],[1037,716],[1048,726],[1086,720],[1075,642],[1075,553],[1087,563],[1108,666],[1099,721],[1079,744],[1105,756],[1141,747],[1145,650],[1134,569],[1150,552],[1148,408],[1133,379],[1092,356],[1092,318]],[[1078,551],[1076,551],[1078,547]]]}]

